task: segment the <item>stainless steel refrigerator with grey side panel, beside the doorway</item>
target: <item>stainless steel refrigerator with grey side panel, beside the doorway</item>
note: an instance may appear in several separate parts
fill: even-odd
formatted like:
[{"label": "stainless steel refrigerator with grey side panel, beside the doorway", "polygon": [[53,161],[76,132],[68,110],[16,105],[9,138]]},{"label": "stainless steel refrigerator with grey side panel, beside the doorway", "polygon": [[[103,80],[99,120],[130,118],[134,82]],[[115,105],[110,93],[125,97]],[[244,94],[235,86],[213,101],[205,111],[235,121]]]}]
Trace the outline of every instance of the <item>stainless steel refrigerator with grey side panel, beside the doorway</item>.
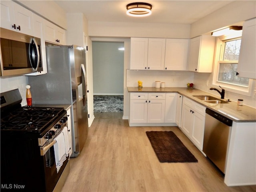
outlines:
[{"label": "stainless steel refrigerator with grey side panel, beside the doorway", "polygon": [[48,73],[29,76],[32,105],[70,104],[72,156],[82,150],[88,136],[85,50],[79,46],[46,46]]}]

